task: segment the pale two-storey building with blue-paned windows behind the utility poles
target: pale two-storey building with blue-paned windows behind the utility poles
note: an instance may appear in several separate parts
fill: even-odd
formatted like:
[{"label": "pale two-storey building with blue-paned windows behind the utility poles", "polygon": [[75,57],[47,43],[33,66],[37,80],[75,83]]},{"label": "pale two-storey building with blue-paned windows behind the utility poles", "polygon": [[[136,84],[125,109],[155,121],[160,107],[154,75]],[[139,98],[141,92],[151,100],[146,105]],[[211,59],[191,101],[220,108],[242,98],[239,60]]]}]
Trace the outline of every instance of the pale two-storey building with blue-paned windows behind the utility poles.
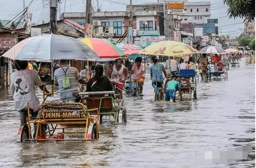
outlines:
[{"label": "pale two-storey building with blue-paned windows behind the utility poles", "polygon": [[[85,24],[85,12],[63,13],[63,18],[75,21],[80,25]],[[93,12],[93,33],[101,36],[104,32],[102,27],[109,27],[114,37],[123,36],[129,27],[129,11]],[[133,12],[133,36],[143,34],[159,35],[160,16],[156,11]]]}]

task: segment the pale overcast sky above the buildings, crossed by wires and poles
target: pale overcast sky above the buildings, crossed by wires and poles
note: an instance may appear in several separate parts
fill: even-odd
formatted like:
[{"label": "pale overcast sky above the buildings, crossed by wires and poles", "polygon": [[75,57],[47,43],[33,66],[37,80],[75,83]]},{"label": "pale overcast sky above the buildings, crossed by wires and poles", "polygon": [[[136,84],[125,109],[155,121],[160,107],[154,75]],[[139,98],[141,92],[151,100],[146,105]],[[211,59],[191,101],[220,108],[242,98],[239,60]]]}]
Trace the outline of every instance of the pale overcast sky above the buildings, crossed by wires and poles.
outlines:
[{"label": "pale overcast sky above the buildings, crossed by wires and poles", "polygon": [[[32,13],[32,23],[41,24],[42,21],[49,21],[49,0],[33,0],[29,6],[29,13]],[[197,2],[200,0],[189,0]],[[206,0],[205,0],[206,1]],[[219,34],[230,34],[230,37],[237,37],[243,32],[244,24],[241,18],[231,18],[227,16],[227,6],[222,0],[208,0],[211,2],[211,18],[219,19]],[[31,0],[25,0],[26,6]],[[65,4],[66,2],[66,4]],[[133,0],[133,4],[155,3],[157,0]],[[126,4],[130,0],[99,0],[102,11],[125,11]],[[92,5],[96,7],[96,0],[92,0]],[[64,8],[65,6],[65,8]],[[58,15],[63,12],[85,12],[85,0],[61,0]],[[23,9],[23,0],[0,0],[0,19],[9,20]]]}]

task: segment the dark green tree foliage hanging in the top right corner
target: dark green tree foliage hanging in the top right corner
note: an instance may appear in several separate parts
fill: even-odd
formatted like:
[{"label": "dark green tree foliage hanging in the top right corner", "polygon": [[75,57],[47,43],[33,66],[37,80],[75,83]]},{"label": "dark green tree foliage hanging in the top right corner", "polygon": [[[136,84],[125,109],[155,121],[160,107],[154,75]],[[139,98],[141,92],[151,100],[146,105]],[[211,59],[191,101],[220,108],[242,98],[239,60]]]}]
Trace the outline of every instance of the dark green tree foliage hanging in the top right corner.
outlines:
[{"label": "dark green tree foliage hanging in the top right corner", "polygon": [[229,18],[245,18],[252,21],[255,18],[255,0],[223,0],[228,6]]}]

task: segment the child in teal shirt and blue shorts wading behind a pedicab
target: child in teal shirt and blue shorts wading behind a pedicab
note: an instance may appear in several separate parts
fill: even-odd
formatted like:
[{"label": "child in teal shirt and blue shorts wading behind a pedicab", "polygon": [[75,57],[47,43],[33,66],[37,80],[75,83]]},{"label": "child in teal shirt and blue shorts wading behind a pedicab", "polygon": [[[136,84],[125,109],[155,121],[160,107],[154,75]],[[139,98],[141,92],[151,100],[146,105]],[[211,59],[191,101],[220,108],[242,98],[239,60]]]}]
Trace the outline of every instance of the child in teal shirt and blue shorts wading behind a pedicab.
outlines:
[{"label": "child in teal shirt and blue shorts wading behind a pedicab", "polygon": [[172,76],[171,80],[165,81],[165,101],[175,102],[177,91],[179,91],[180,100],[182,101],[181,84],[176,79],[176,76]]}]

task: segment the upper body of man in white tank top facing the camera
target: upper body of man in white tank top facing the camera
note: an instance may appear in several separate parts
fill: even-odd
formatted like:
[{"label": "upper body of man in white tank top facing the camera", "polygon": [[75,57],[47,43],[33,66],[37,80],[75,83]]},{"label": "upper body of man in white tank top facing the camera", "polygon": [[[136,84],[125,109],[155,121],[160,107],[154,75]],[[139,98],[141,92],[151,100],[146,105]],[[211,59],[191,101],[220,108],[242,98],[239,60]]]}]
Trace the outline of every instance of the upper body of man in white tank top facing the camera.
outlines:
[{"label": "upper body of man in white tank top facing the camera", "polygon": [[117,82],[124,82],[128,75],[127,75],[127,69],[124,65],[122,65],[123,61],[118,58],[116,60],[116,63],[109,69],[108,76],[111,81],[117,81]]}]

